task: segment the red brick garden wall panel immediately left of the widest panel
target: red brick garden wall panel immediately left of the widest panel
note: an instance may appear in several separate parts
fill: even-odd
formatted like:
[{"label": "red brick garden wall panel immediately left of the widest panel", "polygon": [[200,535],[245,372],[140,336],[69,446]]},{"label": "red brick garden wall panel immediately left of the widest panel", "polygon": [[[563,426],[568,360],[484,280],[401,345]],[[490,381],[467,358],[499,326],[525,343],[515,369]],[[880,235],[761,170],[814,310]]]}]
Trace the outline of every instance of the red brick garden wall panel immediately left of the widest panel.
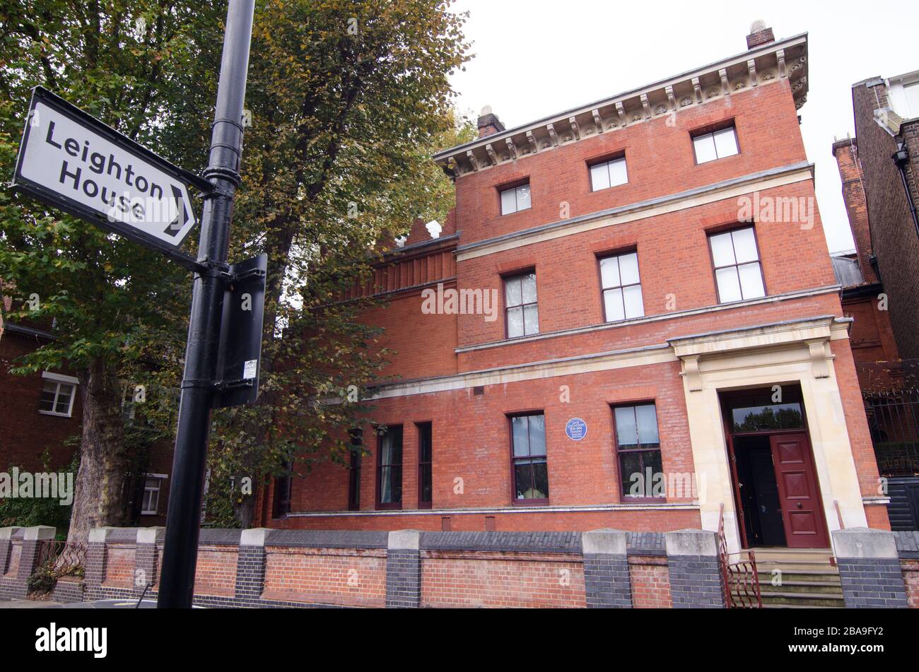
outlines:
[{"label": "red brick garden wall panel immediately left of the widest panel", "polygon": [[386,552],[269,546],[264,599],[383,607]]}]

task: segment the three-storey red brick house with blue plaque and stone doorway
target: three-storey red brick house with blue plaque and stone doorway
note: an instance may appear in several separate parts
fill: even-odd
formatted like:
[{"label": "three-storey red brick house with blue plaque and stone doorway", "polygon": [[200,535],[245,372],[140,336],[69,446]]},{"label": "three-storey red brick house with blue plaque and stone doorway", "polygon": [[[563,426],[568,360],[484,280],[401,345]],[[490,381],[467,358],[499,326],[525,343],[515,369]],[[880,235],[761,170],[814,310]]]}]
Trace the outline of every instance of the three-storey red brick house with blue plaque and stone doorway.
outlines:
[{"label": "three-storey red brick house with blue plaque and stone doorway", "polygon": [[[806,35],[435,157],[455,179],[365,293],[395,351],[366,454],[256,524],[717,530],[828,548],[889,526],[798,111]],[[356,432],[355,436],[358,436]],[[775,467],[773,467],[773,462]]]}]

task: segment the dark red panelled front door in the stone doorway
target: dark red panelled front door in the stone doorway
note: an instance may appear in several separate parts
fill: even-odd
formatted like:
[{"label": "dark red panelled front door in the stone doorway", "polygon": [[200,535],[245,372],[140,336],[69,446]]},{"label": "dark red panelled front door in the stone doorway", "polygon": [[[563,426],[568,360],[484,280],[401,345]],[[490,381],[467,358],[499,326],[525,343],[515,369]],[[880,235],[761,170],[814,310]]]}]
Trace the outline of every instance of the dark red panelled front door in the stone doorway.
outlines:
[{"label": "dark red panelled front door in the stone doorway", "polygon": [[789,548],[829,548],[807,434],[774,434],[772,462]]}]

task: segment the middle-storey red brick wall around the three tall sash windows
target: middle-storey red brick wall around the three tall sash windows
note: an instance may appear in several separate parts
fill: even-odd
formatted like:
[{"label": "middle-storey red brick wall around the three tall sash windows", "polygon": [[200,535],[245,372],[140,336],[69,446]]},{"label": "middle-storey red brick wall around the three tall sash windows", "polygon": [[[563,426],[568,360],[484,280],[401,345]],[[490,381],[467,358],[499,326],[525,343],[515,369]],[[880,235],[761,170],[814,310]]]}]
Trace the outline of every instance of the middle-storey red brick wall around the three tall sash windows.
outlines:
[{"label": "middle-storey red brick wall around the three tall sash windows", "polygon": [[[736,157],[721,161],[729,161],[730,158]],[[766,197],[804,198],[805,203],[816,208],[810,180],[760,192],[761,201]],[[726,199],[690,210],[642,218],[459,261],[459,286],[494,289],[501,306],[498,319],[494,321],[487,321],[482,315],[459,315],[459,346],[505,339],[502,273],[511,273],[517,269],[536,270],[540,333],[603,324],[605,317],[597,255],[607,251],[634,249],[638,252],[645,316],[716,306],[719,299],[709,256],[708,235],[713,228],[737,224],[742,214],[741,209],[738,199]],[[836,284],[821,219],[816,209],[813,215],[811,229],[801,229],[800,223],[795,222],[755,224],[760,262],[769,295]],[[791,254],[789,250],[795,253]],[[802,260],[807,261],[804,263]],[[613,350],[660,343],[664,342],[668,334],[677,336],[698,333],[699,326],[702,326],[701,331],[706,331],[754,326],[770,319],[792,319],[798,316],[800,308],[807,303],[800,299],[779,305],[721,310],[690,319],[628,324],[612,330],[460,353],[459,371],[538,361],[547,355],[604,352],[604,345],[607,345],[607,350]],[[835,307],[828,311],[841,314],[838,299],[835,300]],[[814,314],[819,313],[811,313]],[[431,316],[419,316],[418,320],[417,325],[422,329],[432,321]],[[414,377],[411,371],[400,373],[407,378]]]}]

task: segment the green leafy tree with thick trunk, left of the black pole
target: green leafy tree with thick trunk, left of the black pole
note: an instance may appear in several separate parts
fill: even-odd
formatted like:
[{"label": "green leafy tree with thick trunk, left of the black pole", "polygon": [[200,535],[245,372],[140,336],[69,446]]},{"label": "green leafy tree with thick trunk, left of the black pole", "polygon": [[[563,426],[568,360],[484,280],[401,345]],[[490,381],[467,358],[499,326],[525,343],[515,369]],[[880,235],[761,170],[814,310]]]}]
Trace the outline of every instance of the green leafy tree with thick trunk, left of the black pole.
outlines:
[{"label": "green leafy tree with thick trunk, left of the black pole", "polygon": [[[26,0],[0,8],[0,173],[11,175],[29,89],[43,84],[167,158],[200,168],[213,99],[221,11],[186,0]],[[208,102],[204,102],[207,100]],[[38,120],[40,125],[40,120]],[[85,222],[0,190],[0,284],[8,319],[56,326],[56,341],[15,373],[70,369],[83,396],[81,461],[70,535],[124,517],[126,366],[156,338],[177,358],[187,273]],[[178,322],[178,323],[176,323]],[[181,339],[179,339],[181,341]]]}]

